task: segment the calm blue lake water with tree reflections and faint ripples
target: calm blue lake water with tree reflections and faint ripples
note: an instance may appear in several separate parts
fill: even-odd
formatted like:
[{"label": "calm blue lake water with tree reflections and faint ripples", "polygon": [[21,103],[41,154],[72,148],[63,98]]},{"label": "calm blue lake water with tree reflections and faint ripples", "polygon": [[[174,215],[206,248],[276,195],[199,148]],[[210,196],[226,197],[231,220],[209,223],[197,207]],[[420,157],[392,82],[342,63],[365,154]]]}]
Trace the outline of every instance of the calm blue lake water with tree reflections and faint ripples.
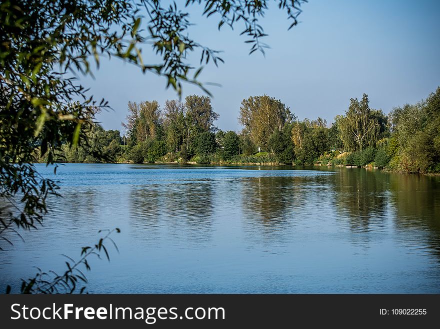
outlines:
[{"label": "calm blue lake water with tree reflections and faint ripples", "polygon": [[67,164],[0,289],[119,227],[92,293],[440,293],[440,177],[298,167]]}]

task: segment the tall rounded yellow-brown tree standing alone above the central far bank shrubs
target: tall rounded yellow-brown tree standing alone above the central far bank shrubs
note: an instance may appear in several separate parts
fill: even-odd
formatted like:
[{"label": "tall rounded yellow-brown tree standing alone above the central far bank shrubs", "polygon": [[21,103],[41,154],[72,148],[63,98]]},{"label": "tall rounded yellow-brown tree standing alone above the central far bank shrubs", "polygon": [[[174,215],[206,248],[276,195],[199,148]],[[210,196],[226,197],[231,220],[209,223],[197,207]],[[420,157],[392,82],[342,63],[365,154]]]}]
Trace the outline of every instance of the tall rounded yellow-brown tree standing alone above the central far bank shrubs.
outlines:
[{"label": "tall rounded yellow-brown tree standing alone above the central far bank shrubs", "polygon": [[241,101],[238,122],[258,146],[267,146],[267,139],[290,123],[293,115],[280,100],[267,95],[251,96]]}]

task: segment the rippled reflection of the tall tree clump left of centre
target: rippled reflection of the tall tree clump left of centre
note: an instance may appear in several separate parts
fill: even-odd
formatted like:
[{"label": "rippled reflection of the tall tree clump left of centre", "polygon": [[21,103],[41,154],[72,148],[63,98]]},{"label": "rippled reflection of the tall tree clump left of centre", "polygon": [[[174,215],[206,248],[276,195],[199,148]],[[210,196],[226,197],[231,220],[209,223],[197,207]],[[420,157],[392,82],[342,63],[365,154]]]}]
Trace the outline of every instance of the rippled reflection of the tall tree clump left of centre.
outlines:
[{"label": "rippled reflection of the tall tree clump left of centre", "polygon": [[210,239],[214,180],[171,180],[132,188],[130,219],[133,234],[142,240],[155,243],[164,225],[176,239]]}]

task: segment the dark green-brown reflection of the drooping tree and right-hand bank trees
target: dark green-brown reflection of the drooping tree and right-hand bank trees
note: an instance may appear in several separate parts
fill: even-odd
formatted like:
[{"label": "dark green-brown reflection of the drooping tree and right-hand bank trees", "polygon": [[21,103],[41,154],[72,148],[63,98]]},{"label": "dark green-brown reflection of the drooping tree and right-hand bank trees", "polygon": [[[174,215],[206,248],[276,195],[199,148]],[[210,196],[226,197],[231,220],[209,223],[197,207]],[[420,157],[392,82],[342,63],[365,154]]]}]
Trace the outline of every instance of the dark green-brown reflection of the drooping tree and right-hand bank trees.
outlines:
[{"label": "dark green-brown reflection of the drooping tree and right-hand bank trees", "polygon": [[332,179],[337,220],[349,223],[353,239],[367,245],[393,225],[408,245],[429,239],[440,260],[439,177],[340,168]]}]

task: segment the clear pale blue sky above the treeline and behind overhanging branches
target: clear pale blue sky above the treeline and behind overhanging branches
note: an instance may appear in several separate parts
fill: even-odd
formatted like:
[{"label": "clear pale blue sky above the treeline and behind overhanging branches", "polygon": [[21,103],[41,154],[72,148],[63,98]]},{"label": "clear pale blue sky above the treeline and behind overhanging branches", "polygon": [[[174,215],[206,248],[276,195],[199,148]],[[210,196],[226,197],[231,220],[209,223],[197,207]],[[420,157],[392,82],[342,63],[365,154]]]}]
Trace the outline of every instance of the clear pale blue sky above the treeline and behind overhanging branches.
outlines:
[{"label": "clear pale blue sky above the treeline and behind overhanging branches", "polygon": [[[177,0],[183,5],[183,0]],[[287,31],[286,14],[272,6],[260,21],[269,36],[266,55],[248,55],[241,26],[217,30],[215,16],[201,16],[202,7],[189,10],[195,26],[189,36],[204,46],[221,50],[224,64],[204,67],[199,79],[208,86],[219,114],[216,126],[241,130],[240,102],[269,95],[280,99],[300,120],[321,117],[330,123],[348,108],[350,98],[368,94],[370,107],[384,113],[395,106],[420,101],[440,86],[440,2],[406,0],[309,0],[302,5],[299,24]],[[142,49],[147,62],[150,46]],[[151,57],[150,57],[151,58]],[[199,66],[198,57],[190,61]],[[153,60],[155,61],[155,60]],[[82,77],[96,99],[105,98],[113,110],[98,121],[105,129],[122,130],[128,101],[176,99],[165,78],[142,74],[119,59],[101,60],[95,78]],[[203,95],[185,84],[183,97]]]}]

